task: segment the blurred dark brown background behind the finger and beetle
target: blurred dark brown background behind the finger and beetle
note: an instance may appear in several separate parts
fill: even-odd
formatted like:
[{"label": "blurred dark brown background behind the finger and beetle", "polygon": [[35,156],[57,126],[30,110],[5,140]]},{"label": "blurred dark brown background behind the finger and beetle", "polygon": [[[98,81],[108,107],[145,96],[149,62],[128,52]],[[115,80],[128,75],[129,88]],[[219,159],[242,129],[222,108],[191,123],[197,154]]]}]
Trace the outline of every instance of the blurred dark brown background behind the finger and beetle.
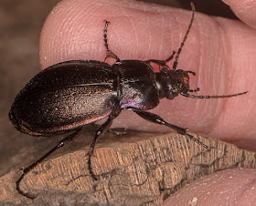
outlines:
[{"label": "blurred dark brown background behind the finger and beetle", "polygon": [[[38,153],[47,151],[59,138],[35,138],[16,131],[8,112],[16,94],[39,71],[37,45],[41,27],[60,0],[1,0],[0,3],[0,176],[26,166]],[[147,0],[144,2],[190,10],[188,0]],[[236,18],[220,0],[195,0],[197,12]],[[26,108],[24,108],[26,109]],[[29,154],[24,146],[28,146]],[[25,155],[26,153],[26,155]],[[36,158],[37,159],[37,158]],[[18,164],[15,162],[19,162]]]}]

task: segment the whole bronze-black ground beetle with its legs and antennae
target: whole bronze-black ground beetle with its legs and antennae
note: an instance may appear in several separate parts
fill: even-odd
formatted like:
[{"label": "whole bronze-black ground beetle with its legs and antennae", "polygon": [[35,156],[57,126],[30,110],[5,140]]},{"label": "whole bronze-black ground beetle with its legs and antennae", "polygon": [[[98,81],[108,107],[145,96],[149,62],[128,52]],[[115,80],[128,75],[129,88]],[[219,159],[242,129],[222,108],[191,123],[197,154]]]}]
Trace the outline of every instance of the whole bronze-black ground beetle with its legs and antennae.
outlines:
[{"label": "whole bronze-black ground beetle with its legs and antennae", "polygon": [[[177,51],[172,69],[167,67],[166,63],[175,56],[176,52],[166,60],[120,60],[109,49],[107,41],[109,22],[105,21],[103,36],[107,49],[106,58],[116,59],[112,66],[94,60],[66,61],[46,68],[27,83],[16,96],[9,112],[9,118],[16,129],[34,136],[51,136],[69,131],[72,133],[23,171],[22,176],[16,181],[16,190],[20,194],[30,199],[36,198],[37,195],[22,191],[19,187],[20,181],[27,172],[34,169],[56,149],[77,137],[83,126],[108,117],[99,126],[88,151],[88,169],[91,177],[97,180],[91,170],[91,155],[96,140],[111,126],[112,120],[120,114],[122,109],[132,110],[146,120],[175,129],[179,134],[187,135],[188,138],[208,148],[207,145],[188,134],[187,129],[165,122],[163,118],[146,111],[155,108],[159,104],[159,99],[173,99],[179,94],[187,98],[230,98],[247,93],[246,91],[225,96],[188,94],[188,92],[199,90],[199,88],[189,88],[188,74],[195,76],[196,73],[176,69],[176,66],[194,20],[195,7],[192,3],[191,7],[191,21]],[[160,72],[154,72],[151,63],[162,67]]]}]

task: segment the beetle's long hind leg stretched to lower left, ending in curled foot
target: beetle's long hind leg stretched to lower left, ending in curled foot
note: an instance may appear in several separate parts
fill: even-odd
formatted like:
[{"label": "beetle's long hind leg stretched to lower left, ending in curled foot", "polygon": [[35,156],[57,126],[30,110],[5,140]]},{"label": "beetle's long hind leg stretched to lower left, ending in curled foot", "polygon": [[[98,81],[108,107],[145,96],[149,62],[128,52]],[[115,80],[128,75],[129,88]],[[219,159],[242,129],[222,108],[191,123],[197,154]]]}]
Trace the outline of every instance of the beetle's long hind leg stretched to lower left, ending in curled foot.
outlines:
[{"label": "beetle's long hind leg stretched to lower left, ending in curled foot", "polygon": [[27,175],[27,173],[34,169],[37,164],[39,164],[40,162],[42,162],[43,160],[45,160],[51,153],[53,153],[55,150],[63,147],[65,144],[69,143],[71,140],[73,140],[75,137],[77,137],[80,133],[80,129],[77,129],[75,130],[75,132],[73,132],[72,134],[69,134],[68,137],[62,139],[59,141],[59,143],[53,148],[53,149],[50,149],[48,151],[48,153],[46,153],[44,156],[42,156],[40,159],[38,159],[37,161],[35,161],[34,163],[30,164],[26,169],[23,170],[23,174],[21,175],[21,177],[16,181],[16,190],[22,194],[23,196],[29,198],[29,199],[35,199],[37,197],[37,194],[33,194],[33,193],[30,193],[30,192],[25,192],[25,191],[22,191],[19,187],[19,184],[20,184],[20,181],[23,180],[23,178],[25,177],[25,175]]}]

